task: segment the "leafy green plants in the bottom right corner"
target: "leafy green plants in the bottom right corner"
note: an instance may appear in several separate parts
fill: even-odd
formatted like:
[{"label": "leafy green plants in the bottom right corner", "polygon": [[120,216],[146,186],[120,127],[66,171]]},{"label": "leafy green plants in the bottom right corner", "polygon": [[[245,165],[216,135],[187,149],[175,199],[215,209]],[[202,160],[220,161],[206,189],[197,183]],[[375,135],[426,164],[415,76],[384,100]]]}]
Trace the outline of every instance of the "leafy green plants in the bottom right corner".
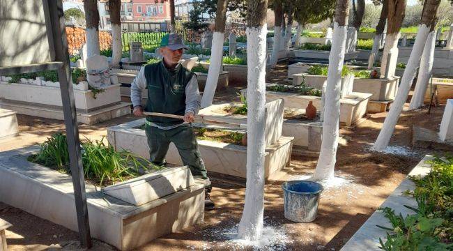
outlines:
[{"label": "leafy green plants in the bottom right corner", "polygon": [[415,190],[404,192],[417,201],[417,208],[406,206],[415,214],[404,218],[391,208],[383,208],[393,231],[383,250],[452,250],[453,249],[453,158],[434,158],[429,161],[431,172],[421,178],[410,176]]}]

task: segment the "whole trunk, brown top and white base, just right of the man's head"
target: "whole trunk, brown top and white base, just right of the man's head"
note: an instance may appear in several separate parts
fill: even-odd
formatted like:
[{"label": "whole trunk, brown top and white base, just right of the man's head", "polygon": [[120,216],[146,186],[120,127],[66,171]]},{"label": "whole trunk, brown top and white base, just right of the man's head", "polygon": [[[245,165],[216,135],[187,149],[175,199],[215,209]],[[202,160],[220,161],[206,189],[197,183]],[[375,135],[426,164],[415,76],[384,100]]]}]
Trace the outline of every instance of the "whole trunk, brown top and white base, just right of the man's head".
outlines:
[{"label": "whole trunk, brown top and white base, just right of the man's head", "polygon": [[222,68],[225,22],[227,22],[227,0],[217,0],[213,45],[210,49],[210,65],[203,97],[201,97],[202,108],[213,104],[215,89],[217,88],[217,81]]}]

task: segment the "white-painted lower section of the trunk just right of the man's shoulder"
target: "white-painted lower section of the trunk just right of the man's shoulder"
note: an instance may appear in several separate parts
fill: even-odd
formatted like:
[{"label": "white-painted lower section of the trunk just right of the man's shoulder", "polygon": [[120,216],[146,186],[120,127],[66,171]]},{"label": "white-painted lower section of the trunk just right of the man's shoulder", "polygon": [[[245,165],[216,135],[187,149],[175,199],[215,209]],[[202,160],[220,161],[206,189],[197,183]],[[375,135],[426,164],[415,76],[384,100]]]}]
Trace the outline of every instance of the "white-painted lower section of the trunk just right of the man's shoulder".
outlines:
[{"label": "white-painted lower section of the trunk just right of the man's shoulder", "polygon": [[203,96],[201,97],[201,108],[213,104],[220,68],[222,68],[223,40],[224,33],[215,31],[213,36],[213,47],[210,50],[208,77],[206,79],[206,85],[204,86]]}]

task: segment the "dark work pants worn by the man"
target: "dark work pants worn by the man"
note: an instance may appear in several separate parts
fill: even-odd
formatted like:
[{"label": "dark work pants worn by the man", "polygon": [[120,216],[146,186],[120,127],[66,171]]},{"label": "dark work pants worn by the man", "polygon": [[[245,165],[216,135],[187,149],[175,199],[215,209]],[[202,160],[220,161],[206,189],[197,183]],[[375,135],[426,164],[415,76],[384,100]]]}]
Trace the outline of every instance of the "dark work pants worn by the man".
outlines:
[{"label": "dark work pants worn by the man", "polygon": [[[194,128],[190,124],[184,124],[170,130],[162,130],[146,125],[146,137],[148,138],[149,158],[155,165],[166,165],[165,155],[169,144],[173,142],[178,149],[183,165],[190,168],[194,177],[207,179],[206,167],[198,150],[197,138]],[[210,192],[209,185],[206,190]]]}]

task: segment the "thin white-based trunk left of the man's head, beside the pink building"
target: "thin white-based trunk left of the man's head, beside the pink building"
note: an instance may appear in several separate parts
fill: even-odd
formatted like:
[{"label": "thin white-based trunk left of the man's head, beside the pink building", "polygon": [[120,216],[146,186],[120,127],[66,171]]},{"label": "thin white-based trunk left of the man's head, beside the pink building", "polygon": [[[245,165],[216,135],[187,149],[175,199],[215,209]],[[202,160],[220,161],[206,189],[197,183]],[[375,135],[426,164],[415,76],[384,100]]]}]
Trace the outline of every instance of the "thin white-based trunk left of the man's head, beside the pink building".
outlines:
[{"label": "thin white-based trunk left of the man's head, beside the pink building", "polygon": [[110,22],[112,22],[112,66],[118,67],[123,54],[121,45],[121,0],[109,0]]}]

